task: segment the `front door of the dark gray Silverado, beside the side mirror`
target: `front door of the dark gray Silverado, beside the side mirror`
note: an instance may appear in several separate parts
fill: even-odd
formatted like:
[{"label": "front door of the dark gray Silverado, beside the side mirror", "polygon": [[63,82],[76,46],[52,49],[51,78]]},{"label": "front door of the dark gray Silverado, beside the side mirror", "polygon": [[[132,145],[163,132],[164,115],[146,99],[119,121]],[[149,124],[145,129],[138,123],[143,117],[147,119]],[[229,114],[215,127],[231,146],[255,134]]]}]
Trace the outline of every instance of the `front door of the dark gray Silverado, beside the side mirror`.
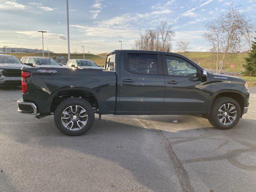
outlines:
[{"label": "front door of the dark gray Silverado, beside the side mirror", "polygon": [[200,69],[187,60],[162,55],[165,74],[164,111],[203,112],[210,96],[210,85],[202,82]]}]

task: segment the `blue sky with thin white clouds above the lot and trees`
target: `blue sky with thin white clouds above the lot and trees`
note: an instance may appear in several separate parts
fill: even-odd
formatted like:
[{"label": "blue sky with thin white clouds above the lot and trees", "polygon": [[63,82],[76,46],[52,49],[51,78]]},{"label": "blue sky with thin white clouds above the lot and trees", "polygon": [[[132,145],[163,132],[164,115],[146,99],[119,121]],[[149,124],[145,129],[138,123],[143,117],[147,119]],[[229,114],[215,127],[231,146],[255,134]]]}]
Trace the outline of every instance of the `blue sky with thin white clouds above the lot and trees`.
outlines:
[{"label": "blue sky with thin white clouds above the lot and trees", "polygon": [[[70,51],[95,54],[131,49],[138,29],[155,28],[164,20],[175,41],[190,41],[190,51],[207,51],[205,24],[228,10],[230,2],[256,19],[256,0],[69,0]],[[0,46],[66,53],[66,0],[0,0]]]}]

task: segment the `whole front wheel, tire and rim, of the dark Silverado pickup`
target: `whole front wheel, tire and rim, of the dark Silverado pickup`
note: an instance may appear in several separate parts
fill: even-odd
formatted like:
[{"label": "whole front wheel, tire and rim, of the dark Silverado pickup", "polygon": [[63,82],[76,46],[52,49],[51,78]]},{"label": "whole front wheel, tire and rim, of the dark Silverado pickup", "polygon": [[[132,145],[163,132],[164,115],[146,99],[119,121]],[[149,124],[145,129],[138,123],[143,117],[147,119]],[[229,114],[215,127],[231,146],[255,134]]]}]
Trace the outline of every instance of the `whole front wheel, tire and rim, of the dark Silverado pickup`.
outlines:
[{"label": "whole front wheel, tire and rim, of the dark Silverado pickup", "polygon": [[231,129],[241,116],[238,102],[229,97],[219,97],[214,100],[209,116],[209,122],[218,129]]}]

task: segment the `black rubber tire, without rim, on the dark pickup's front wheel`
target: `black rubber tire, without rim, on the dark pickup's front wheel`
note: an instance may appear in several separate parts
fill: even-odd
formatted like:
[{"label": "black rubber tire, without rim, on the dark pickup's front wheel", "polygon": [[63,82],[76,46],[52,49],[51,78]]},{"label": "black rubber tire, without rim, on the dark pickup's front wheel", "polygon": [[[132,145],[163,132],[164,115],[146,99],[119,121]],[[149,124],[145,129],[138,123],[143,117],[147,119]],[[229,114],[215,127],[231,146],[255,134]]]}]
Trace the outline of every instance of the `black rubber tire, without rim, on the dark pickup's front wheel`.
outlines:
[{"label": "black rubber tire, without rim, on the dark pickup's front wheel", "polygon": [[[221,123],[218,118],[218,114],[219,114],[218,111],[220,107],[223,106],[224,104],[232,104],[236,108],[236,118],[231,122],[231,124],[228,124],[228,125]],[[241,108],[236,100],[230,97],[218,97],[214,100],[212,104],[212,108],[211,108],[211,112],[208,120],[210,124],[212,124],[214,127],[218,129],[231,129],[238,123],[240,117],[241,117]]]}]

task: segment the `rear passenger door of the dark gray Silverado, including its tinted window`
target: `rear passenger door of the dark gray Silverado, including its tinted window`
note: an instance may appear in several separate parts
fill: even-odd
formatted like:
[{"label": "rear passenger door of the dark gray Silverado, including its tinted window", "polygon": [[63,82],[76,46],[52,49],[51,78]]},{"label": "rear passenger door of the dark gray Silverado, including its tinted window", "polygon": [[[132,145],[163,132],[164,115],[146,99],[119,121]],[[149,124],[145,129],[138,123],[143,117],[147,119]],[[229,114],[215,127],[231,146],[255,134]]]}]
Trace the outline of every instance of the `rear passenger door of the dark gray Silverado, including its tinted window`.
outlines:
[{"label": "rear passenger door of the dark gray Silverado, including its tinted window", "polygon": [[120,60],[119,104],[123,111],[161,111],[164,75],[161,55],[125,52]]}]

